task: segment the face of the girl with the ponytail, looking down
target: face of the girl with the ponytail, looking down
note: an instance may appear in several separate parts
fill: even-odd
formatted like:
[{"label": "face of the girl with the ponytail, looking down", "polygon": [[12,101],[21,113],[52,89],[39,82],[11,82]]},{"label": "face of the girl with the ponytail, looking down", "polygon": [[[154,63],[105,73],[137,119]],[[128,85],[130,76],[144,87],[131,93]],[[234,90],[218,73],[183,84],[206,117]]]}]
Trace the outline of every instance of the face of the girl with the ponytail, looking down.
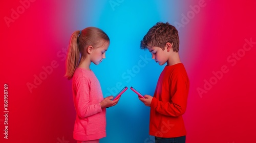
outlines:
[{"label": "face of the girl with the ponytail, looking down", "polygon": [[92,49],[92,58],[91,61],[98,65],[103,59],[106,58],[105,53],[106,50],[109,48],[109,42],[104,42],[102,46],[98,48],[93,48]]}]

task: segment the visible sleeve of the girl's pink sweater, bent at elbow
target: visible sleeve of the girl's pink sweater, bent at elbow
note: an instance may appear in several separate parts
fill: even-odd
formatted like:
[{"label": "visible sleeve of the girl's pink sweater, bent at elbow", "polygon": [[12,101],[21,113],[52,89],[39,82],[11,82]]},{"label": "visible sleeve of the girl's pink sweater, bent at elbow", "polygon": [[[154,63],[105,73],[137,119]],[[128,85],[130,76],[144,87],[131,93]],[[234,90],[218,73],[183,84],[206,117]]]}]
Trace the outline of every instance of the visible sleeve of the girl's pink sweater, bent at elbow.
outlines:
[{"label": "visible sleeve of the girl's pink sweater, bent at elbow", "polygon": [[[102,112],[100,103],[89,104],[90,82],[86,78],[79,78],[76,84],[75,106],[79,117],[84,118]],[[93,95],[92,95],[93,96]]]}]

